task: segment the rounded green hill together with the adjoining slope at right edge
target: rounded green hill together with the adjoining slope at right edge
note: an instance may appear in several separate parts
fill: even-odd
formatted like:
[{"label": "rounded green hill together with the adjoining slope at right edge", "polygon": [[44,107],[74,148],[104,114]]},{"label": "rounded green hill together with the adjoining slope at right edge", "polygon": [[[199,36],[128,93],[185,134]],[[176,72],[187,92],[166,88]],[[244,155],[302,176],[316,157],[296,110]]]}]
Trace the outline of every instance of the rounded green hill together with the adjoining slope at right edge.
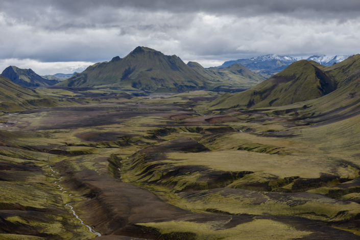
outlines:
[{"label": "rounded green hill together with the adjoining slope at right edge", "polygon": [[[331,66],[301,60],[261,84],[241,93],[223,94],[203,107],[206,110],[268,108],[304,101],[303,116],[345,118],[360,114],[360,55]],[[299,104],[296,106],[298,107]],[[288,106],[287,108],[295,108]],[[315,118],[315,117],[314,117]],[[330,118],[330,117],[329,117]]]}]

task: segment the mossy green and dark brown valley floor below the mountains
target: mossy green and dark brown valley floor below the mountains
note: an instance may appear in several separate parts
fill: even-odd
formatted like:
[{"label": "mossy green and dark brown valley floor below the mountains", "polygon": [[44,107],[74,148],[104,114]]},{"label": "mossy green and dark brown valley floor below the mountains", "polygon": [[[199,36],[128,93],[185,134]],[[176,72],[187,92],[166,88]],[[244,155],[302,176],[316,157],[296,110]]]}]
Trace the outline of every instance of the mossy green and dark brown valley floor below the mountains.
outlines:
[{"label": "mossy green and dark brown valley floor below the mountains", "polygon": [[2,239],[359,238],[356,114],[35,91],[71,103],[0,116]]}]

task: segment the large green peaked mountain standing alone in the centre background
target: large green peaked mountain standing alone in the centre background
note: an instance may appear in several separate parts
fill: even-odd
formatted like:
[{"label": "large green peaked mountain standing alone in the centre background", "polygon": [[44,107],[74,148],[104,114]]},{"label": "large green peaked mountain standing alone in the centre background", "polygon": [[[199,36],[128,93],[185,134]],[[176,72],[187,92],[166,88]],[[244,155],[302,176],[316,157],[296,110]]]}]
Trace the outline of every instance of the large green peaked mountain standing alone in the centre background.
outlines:
[{"label": "large green peaked mountain standing alone in the centre background", "polygon": [[[198,66],[194,67],[194,65]],[[239,77],[234,77],[234,75],[241,75],[239,72],[222,73],[227,75],[224,77],[215,76],[210,72],[206,74],[198,68],[202,66],[195,63],[189,66],[175,55],[166,56],[160,51],[139,46],[123,59],[115,57],[110,62],[89,66],[82,73],[76,73],[59,83],[58,86],[97,86],[149,92],[184,92],[221,86],[249,87],[250,85],[246,82],[251,82],[254,86],[256,81],[262,80],[261,77],[252,75],[254,79],[246,80],[244,77],[243,83],[238,83]]]}]

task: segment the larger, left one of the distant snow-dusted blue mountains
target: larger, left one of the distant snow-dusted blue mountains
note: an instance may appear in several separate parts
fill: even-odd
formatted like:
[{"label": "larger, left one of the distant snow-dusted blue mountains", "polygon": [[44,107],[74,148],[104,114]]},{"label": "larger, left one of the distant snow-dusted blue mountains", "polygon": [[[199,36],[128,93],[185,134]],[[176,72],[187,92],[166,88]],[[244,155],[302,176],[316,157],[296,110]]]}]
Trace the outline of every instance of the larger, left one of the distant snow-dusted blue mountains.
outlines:
[{"label": "larger, left one of the distant snow-dusted blue mountains", "polygon": [[223,63],[223,65],[216,68],[224,68],[238,63],[244,65],[247,69],[258,73],[259,75],[268,78],[282,71],[293,62],[296,62],[296,59],[292,57],[270,54],[251,59],[238,59],[235,61],[227,61]]}]

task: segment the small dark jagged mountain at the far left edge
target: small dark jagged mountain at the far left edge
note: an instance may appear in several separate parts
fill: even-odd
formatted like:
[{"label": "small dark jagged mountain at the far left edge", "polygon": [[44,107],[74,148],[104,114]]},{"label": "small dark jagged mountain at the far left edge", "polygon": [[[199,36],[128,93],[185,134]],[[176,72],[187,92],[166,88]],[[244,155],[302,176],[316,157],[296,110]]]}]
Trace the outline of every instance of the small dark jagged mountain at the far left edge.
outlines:
[{"label": "small dark jagged mountain at the far left edge", "polygon": [[21,69],[16,66],[5,68],[1,75],[9,78],[13,83],[25,87],[52,86],[58,83],[56,79],[45,79],[31,69]]}]

